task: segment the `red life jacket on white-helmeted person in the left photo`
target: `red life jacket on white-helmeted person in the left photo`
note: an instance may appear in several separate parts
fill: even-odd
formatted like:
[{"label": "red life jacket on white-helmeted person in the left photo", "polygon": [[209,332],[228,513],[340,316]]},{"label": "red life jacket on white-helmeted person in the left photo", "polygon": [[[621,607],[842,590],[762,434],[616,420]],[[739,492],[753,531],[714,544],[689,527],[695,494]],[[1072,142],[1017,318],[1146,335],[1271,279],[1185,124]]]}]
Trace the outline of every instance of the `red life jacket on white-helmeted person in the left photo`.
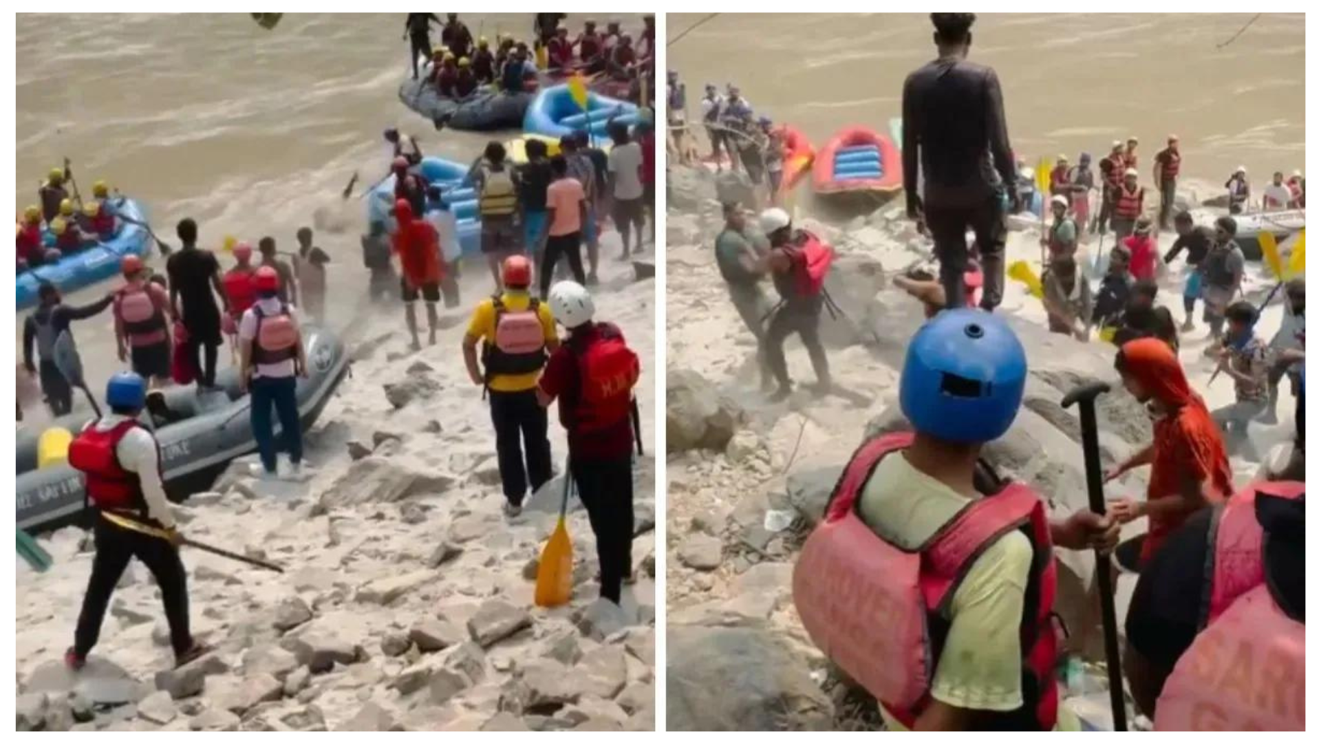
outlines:
[{"label": "red life jacket on white-helmeted person in the left photo", "polygon": [[598,323],[596,336],[576,353],[580,390],[572,416],[573,431],[600,431],[627,419],[642,365],[624,341],[624,333],[609,323]]}]

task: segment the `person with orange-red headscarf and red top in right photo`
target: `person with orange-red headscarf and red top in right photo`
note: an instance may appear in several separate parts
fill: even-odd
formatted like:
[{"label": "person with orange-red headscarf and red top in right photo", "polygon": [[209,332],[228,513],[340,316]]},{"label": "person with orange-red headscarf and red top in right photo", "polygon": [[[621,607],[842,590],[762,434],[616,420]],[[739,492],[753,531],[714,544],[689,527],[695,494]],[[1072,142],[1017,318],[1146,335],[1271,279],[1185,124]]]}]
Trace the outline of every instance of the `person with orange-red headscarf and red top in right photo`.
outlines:
[{"label": "person with orange-red headscarf and red top in right photo", "polygon": [[1124,497],[1110,504],[1111,516],[1120,522],[1148,518],[1139,558],[1139,565],[1145,565],[1189,516],[1232,494],[1232,472],[1219,428],[1189,387],[1168,344],[1159,338],[1129,341],[1119,349],[1115,369],[1124,387],[1152,414],[1152,443],[1106,473],[1110,481],[1152,465],[1145,501]]}]

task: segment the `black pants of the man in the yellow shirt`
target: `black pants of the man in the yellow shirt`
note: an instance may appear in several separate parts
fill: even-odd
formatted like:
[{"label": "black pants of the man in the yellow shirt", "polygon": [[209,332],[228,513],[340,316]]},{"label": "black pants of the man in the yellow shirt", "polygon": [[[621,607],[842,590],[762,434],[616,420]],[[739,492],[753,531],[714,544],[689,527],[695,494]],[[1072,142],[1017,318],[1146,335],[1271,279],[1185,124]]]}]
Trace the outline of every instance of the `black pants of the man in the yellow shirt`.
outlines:
[{"label": "black pants of the man in the yellow shirt", "polygon": [[551,440],[546,435],[546,409],[536,402],[536,390],[519,393],[491,390],[490,401],[491,423],[495,426],[495,456],[499,461],[505,498],[513,505],[523,505],[528,485],[536,490],[551,479]]}]

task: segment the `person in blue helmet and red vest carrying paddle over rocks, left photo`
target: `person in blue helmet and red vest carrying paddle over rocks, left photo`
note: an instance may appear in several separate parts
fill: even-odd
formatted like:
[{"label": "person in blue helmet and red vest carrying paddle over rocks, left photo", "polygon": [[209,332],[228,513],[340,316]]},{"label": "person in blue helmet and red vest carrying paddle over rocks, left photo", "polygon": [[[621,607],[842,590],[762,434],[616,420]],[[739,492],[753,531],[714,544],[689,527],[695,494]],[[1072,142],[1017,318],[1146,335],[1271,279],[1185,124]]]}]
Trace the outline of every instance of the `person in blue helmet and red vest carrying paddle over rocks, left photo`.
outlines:
[{"label": "person in blue helmet and red vest carrying paddle over rocks, left photo", "polygon": [[[156,579],[176,665],[184,665],[210,648],[197,643],[188,623],[188,575],[178,558],[182,537],[174,529],[165,488],[161,485],[160,444],[137,415],[147,402],[147,382],[132,372],[120,372],[106,385],[110,414],[89,423],[69,444],[69,464],[83,473],[87,498],[98,518],[92,526],[96,554],[83,594],[74,644],[65,652],[65,665],[79,670],[100,637],[100,624],[128,561],[137,558]],[[169,539],[118,526],[107,516],[164,529]]]}]

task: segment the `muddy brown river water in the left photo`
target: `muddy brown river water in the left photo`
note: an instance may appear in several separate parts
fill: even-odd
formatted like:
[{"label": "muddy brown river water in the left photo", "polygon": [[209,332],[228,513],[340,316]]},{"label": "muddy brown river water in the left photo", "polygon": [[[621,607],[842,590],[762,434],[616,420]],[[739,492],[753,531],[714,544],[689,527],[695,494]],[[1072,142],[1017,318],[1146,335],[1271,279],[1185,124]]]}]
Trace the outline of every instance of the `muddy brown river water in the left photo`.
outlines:
[{"label": "muddy brown river water in the left photo", "polygon": [[[596,19],[604,26],[608,16]],[[491,45],[501,32],[532,37],[532,13],[460,20]],[[571,15],[564,22],[576,33],[583,20]],[[637,37],[641,16],[621,20]],[[248,13],[20,13],[15,206],[36,204],[38,181],[67,156],[85,196],[104,178],[143,200],[156,233],[176,246],[174,225],[184,217],[197,219],[203,247],[213,249],[232,234],[254,245],[271,235],[281,251],[293,250],[300,226],[336,227],[318,230],[316,242],[332,255],[330,321],[345,323],[363,305],[358,235],[366,219],[357,196],[388,167],[382,131],[398,126],[417,136],[424,153],[458,161],[493,137],[518,134],[437,134],[404,107],[403,26],[404,13],[288,13],[272,30]],[[432,44],[439,41],[433,28]],[[358,185],[343,201],[354,172]],[[160,258],[151,262],[164,270]],[[221,255],[221,263],[231,259]],[[92,301],[112,286],[95,284],[67,301]],[[402,328],[399,315],[384,321]],[[110,327],[108,312],[75,325],[89,379],[118,366]],[[29,410],[40,415],[36,407]]]}]

